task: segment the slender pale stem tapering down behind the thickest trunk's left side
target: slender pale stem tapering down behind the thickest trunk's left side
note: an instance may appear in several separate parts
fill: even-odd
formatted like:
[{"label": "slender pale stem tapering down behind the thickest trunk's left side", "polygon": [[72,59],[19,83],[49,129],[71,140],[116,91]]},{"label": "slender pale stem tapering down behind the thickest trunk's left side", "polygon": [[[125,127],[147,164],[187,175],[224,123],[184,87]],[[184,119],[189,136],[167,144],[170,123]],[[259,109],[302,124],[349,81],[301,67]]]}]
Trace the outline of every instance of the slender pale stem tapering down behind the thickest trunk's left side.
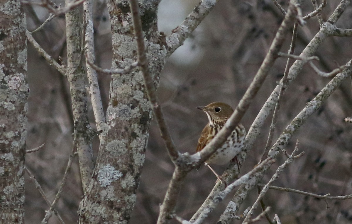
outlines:
[{"label": "slender pale stem tapering down behind the thickest trunk's left side", "polygon": [[[94,52],[94,31],[93,31],[93,1],[86,0],[83,2],[83,11],[84,11],[84,22],[85,22],[85,31],[84,34],[84,51],[87,55],[86,57],[86,68],[87,68],[87,78],[88,78],[88,93],[92,102],[93,113],[95,118],[96,129],[98,131],[103,129],[105,125],[105,116],[103,111],[103,105],[101,101],[101,95],[99,90],[98,78],[96,71],[87,63],[88,58],[92,61],[95,60]],[[101,138],[100,135],[99,139]]]}]

